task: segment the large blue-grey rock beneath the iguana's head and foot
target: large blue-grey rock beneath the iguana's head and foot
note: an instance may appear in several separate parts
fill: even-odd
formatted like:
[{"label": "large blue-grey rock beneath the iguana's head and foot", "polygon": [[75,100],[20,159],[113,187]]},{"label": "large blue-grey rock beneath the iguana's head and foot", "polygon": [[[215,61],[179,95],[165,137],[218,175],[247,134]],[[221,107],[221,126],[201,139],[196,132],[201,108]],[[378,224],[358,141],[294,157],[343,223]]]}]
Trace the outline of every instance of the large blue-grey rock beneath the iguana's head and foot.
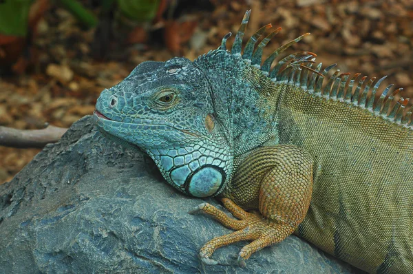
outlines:
[{"label": "large blue-grey rock beneath the iguana's head and foot", "polygon": [[255,253],[246,268],[237,266],[246,242],[205,266],[202,244],[231,231],[187,213],[201,202],[169,187],[142,153],[103,138],[86,116],[0,185],[0,273],[357,272],[295,236]]}]

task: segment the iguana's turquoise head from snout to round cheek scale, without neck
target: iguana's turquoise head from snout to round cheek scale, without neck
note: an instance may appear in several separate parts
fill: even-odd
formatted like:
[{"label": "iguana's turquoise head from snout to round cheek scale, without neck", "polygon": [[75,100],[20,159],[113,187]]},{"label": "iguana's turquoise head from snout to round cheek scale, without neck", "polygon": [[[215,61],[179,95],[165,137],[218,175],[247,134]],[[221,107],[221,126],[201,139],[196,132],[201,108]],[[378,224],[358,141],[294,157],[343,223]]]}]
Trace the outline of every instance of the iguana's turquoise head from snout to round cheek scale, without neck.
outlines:
[{"label": "iguana's turquoise head from snout to round cheek scale, without neck", "polygon": [[229,180],[233,156],[211,96],[207,78],[188,59],[148,61],[100,94],[96,123],[146,151],[173,187],[215,196]]}]

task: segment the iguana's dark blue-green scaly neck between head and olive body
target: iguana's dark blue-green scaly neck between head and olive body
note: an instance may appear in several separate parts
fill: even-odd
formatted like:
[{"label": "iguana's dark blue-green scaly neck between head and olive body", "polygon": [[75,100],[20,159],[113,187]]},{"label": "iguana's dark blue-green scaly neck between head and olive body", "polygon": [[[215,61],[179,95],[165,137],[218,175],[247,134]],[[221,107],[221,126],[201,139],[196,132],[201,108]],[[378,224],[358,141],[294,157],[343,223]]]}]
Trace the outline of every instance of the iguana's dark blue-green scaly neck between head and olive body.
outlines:
[{"label": "iguana's dark blue-green scaly neck between head and olive body", "polygon": [[234,157],[278,143],[276,110],[282,92],[270,78],[224,50],[204,54],[194,65],[209,81],[214,115],[226,130]]}]

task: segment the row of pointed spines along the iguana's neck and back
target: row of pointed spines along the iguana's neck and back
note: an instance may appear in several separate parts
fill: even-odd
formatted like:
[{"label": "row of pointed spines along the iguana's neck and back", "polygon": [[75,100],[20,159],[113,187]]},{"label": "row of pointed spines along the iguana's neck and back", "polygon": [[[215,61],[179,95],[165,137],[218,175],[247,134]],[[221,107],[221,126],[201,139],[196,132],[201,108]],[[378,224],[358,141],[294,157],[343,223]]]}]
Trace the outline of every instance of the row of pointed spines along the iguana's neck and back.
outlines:
[{"label": "row of pointed spines along the iguana's neck and back", "polygon": [[[321,71],[322,63],[319,63],[315,69],[313,69],[312,67],[313,63],[315,63],[316,54],[312,52],[296,52],[290,54],[275,63],[271,70],[273,62],[280,53],[284,52],[287,48],[290,48],[291,45],[301,41],[301,39],[304,39],[309,33],[303,34],[296,39],[281,45],[277,50],[271,53],[264,62],[262,62],[262,52],[264,48],[268,42],[273,39],[275,34],[281,30],[281,28],[273,30],[262,39],[257,47],[255,47],[260,36],[262,36],[266,30],[272,28],[271,24],[264,25],[257,30],[250,39],[248,39],[244,48],[244,53],[241,54],[242,38],[244,37],[244,32],[250,16],[251,10],[247,10],[229,54],[243,59],[249,65],[261,70],[262,74],[271,78],[273,82],[287,83],[289,85],[300,87],[304,92],[308,92],[309,94],[315,94],[316,96],[330,98],[355,107],[368,109],[372,115],[381,116],[385,120],[390,120],[403,127],[412,128],[412,107],[409,107],[406,114],[403,115],[404,109],[409,102],[409,98],[400,98],[399,100],[394,98],[396,94],[403,90],[402,88],[392,89],[393,85],[388,85],[383,89],[381,96],[377,99],[377,103],[374,103],[375,95],[377,94],[379,87],[381,87],[381,83],[387,76],[383,76],[375,84],[374,81],[376,81],[376,77],[368,79],[368,76],[363,76],[357,81],[357,78],[361,75],[360,73],[355,73],[351,76],[348,72],[340,73],[340,70],[336,70],[331,76],[327,76],[336,64],[329,65]],[[226,50],[226,41],[230,36],[231,33],[224,36],[219,48],[220,50]],[[366,82],[367,79],[368,81]]]}]

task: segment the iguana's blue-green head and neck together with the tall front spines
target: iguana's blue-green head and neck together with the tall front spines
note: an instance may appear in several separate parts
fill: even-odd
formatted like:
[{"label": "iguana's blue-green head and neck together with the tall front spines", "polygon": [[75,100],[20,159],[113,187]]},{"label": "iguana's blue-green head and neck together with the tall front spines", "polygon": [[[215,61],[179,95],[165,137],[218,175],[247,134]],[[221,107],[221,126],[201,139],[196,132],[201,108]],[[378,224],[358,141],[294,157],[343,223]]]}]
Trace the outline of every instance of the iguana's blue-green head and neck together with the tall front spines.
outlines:
[{"label": "iguana's blue-green head and neck together with the tall front spines", "polygon": [[257,30],[241,54],[250,13],[231,52],[226,50],[227,34],[218,50],[193,62],[173,58],[141,63],[125,80],[105,89],[96,103],[100,131],[146,151],[169,184],[191,196],[218,195],[242,158],[257,147],[279,143],[276,106],[285,88],[275,82],[294,76],[280,69],[286,63],[287,68],[299,67],[315,55],[291,54],[270,72],[278,54],[304,34],[275,50],[261,66],[263,48],[280,28],[257,47],[255,43],[271,24]]}]

